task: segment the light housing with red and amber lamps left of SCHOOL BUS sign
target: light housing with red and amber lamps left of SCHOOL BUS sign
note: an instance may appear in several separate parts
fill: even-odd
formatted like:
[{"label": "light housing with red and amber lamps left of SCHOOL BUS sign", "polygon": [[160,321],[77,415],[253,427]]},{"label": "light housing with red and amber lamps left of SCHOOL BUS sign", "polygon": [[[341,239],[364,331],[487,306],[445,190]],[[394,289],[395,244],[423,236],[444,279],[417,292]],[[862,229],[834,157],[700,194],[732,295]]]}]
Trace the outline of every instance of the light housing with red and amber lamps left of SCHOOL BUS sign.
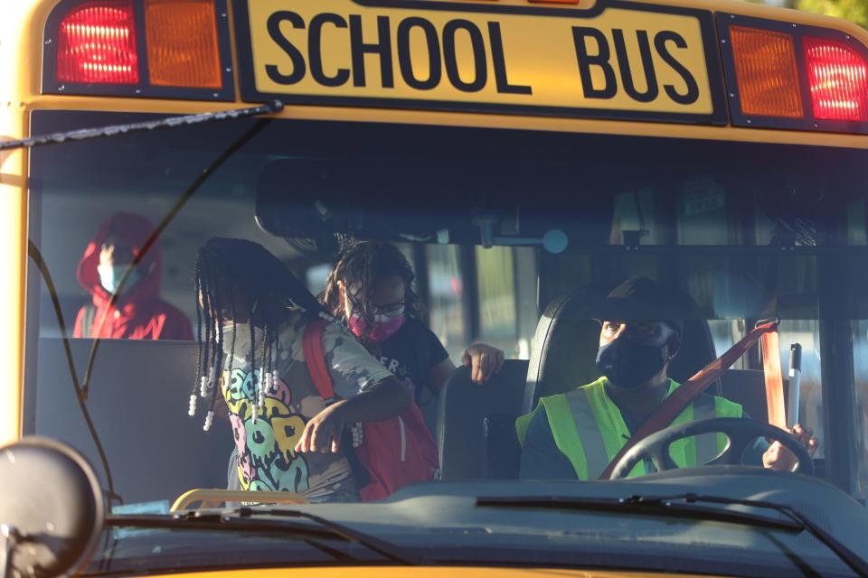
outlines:
[{"label": "light housing with red and amber lamps left of SCHOOL BUS sign", "polygon": [[57,0],[42,94],[231,102],[230,1]]}]

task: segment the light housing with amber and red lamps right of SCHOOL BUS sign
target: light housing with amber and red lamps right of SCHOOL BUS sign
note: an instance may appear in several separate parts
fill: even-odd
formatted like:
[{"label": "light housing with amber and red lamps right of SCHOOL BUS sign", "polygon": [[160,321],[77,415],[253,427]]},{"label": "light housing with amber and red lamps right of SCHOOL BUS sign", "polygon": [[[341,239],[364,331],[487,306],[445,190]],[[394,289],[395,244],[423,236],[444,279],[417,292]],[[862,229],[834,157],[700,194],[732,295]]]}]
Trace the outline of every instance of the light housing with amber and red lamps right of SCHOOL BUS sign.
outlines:
[{"label": "light housing with amber and red lamps right of SCHOOL BUS sign", "polygon": [[868,135],[868,43],[846,29],[717,14],[732,126]]}]

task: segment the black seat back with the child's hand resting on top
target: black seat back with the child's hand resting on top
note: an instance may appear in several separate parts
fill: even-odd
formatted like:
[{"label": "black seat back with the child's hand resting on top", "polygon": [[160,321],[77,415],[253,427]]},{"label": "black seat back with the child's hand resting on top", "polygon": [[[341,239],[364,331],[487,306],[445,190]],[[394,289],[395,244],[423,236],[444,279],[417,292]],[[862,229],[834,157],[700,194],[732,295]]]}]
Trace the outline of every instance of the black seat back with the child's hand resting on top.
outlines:
[{"label": "black seat back with the child's hand resting on top", "polygon": [[521,448],[515,418],[521,415],[527,361],[507,359],[486,383],[458,368],[440,393],[437,445],[442,480],[518,477]]}]

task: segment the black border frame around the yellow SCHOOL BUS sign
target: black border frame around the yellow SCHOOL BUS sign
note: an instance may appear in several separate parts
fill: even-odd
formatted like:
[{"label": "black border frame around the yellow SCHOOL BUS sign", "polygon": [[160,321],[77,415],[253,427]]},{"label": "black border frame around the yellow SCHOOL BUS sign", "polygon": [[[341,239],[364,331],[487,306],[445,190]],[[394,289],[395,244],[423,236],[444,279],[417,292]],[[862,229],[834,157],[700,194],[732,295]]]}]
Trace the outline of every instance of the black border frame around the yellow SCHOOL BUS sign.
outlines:
[{"label": "black border frame around the yellow SCHOOL BUS sign", "polygon": [[250,0],[232,0],[235,19],[235,42],[239,60],[241,99],[245,102],[280,100],[284,104],[324,105],[335,107],[384,107],[413,110],[458,111],[469,113],[503,113],[534,117],[600,118],[611,120],[639,120],[649,122],[674,122],[693,125],[725,126],[728,123],[726,99],[722,79],[722,64],[717,50],[717,35],[711,12],[693,8],[664,5],[646,5],[629,0],[599,0],[590,10],[550,8],[541,6],[480,5],[454,2],[425,2],[424,0],[353,0],[364,7],[412,9],[417,13],[427,11],[456,11],[481,14],[526,14],[535,16],[558,16],[587,19],[603,14],[607,9],[623,9],[655,14],[678,14],[693,16],[699,21],[705,51],[706,72],[712,98],[712,114],[678,114],[650,111],[610,110],[580,107],[536,107],[501,103],[470,103],[450,100],[425,100],[411,98],[365,98],[325,97],[263,93],[256,89],[253,72],[253,50],[250,42]]}]

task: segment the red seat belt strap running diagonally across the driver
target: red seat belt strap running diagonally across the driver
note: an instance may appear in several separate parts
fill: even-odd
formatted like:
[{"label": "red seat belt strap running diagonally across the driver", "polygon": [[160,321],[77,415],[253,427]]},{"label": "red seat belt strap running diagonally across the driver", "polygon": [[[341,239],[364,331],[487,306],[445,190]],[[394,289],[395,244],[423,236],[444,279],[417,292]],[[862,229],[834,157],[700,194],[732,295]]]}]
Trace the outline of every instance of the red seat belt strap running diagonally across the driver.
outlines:
[{"label": "red seat belt strap running diagonally across the driver", "polygon": [[[667,397],[665,401],[657,407],[655,412],[648,417],[645,424],[642,424],[637,432],[630,437],[615,458],[609,462],[609,466],[606,467],[606,471],[603,471],[599,479],[609,480],[609,476],[615,469],[615,464],[617,464],[621,457],[624,456],[625,453],[629,452],[639,440],[643,440],[652,433],[657,433],[668,427],[669,424],[672,424],[675,417],[681,414],[681,412],[684,411],[684,408],[689,406],[707,387],[720,378],[733,363],[750,350],[750,348],[760,340],[760,337],[771,331],[774,331],[775,336],[777,337],[777,321],[764,322],[757,325],[753,331],[750,331],[744,339],[733,345],[721,357],[714,359],[694,375],[693,378],[688,379],[681,385],[681,387],[675,389],[675,392],[671,396]],[[778,355],[778,372],[780,371],[779,364],[780,356]]]}]

